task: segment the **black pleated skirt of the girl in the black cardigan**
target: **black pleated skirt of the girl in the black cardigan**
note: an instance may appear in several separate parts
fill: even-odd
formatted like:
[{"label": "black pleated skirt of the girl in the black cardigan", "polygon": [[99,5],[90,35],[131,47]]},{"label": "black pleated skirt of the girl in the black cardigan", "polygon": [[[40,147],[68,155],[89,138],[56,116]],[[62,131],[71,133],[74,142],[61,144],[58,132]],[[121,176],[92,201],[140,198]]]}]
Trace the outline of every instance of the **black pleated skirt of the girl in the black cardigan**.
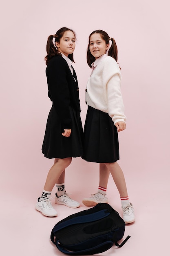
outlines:
[{"label": "black pleated skirt of the girl in the black cardigan", "polygon": [[83,155],[82,121],[79,112],[70,107],[72,119],[71,136],[64,137],[60,119],[52,107],[46,123],[42,153],[47,158],[80,157]]}]

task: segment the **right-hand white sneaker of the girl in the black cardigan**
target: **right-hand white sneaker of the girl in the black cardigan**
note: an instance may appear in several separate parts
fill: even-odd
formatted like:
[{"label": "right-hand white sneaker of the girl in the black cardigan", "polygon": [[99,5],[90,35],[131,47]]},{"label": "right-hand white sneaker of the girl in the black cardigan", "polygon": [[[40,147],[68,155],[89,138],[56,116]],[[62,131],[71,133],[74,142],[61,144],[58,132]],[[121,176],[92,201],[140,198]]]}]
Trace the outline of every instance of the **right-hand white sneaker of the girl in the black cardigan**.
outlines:
[{"label": "right-hand white sneaker of the girl in the black cardigan", "polygon": [[61,195],[57,197],[57,193],[55,193],[55,203],[56,204],[64,204],[70,208],[77,208],[79,207],[79,202],[71,199],[69,195],[66,193],[64,195]]}]

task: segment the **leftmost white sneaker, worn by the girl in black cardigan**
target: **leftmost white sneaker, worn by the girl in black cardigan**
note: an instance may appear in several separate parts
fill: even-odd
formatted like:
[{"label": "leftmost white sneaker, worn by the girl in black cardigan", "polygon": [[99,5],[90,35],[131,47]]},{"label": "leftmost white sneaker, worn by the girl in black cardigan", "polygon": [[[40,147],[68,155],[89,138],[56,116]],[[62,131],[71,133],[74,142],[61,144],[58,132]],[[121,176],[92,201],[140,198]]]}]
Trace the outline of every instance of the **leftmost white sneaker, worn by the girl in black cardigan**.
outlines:
[{"label": "leftmost white sneaker, worn by the girl in black cardigan", "polygon": [[48,216],[48,217],[55,217],[57,216],[57,211],[55,211],[55,209],[52,207],[51,201],[50,199],[47,200],[41,200],[39,202],[37,201],[37,204],[35,206],[35,209],[40,211],[43,215]]}]

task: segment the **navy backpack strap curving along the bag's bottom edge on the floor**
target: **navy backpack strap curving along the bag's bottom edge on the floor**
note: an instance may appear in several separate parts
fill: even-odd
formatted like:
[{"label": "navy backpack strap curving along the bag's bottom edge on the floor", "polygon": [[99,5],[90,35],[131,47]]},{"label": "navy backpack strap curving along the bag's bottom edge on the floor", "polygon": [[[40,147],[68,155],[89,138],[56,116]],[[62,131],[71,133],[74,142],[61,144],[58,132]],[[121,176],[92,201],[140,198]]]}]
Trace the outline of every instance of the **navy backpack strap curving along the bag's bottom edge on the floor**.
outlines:
[{"label": "navy backpack strap curving along the bag's bottom edge on the floor", "polygon": [[81,250],[81,251],[77,251],[77,252],[71,252],[71,251],[68,251],[66,248],[63,248],[62,245],[60,245],[59,241],[56,242],[56,246],[60,250],[60,252],[63,252],[65,254],[86,255],[86,254],[98,254],[98,253],[101,253],[101,252],[105,252],[106,250],[110,249],[113,246],[113,242],[112,241],[106,241],[106,242],[104,242],[100,245],[97,245],[95,247],[85,249],[85,250]]}]

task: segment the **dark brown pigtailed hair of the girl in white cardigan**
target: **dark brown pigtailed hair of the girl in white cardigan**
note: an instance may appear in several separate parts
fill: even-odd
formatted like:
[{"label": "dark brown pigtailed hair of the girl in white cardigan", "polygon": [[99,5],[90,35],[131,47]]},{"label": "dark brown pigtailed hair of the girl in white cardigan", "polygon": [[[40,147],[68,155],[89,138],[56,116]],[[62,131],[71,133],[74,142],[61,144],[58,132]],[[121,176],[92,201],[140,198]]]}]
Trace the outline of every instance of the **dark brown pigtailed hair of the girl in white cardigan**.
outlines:
[{"label": "dark brown pigtailed hair of the girl in white cardigan", "polygon": [[91,67],[91,64],[95,61],[95,57],[91,54],[90,52],[90,49],[89,49],[89,46],[90,46],[90,38],[93,34],[95,33],[98,33],[101,35],[102,39],[105,41],[106,45],[109,44],[109,40],[112,41],[112,45],[110,47],[110,49],[108,50],[108,56],[111,56],[112,58],[115,59],[115,61],[117,62],[117,45],[116,45],[116,42],[115,42],[115,39],[114,38],[110,38],[108,36],[108,34],[103,31],[103,30],[95,30],[93,31],[89,38],[88,38],[88,47],[87,47],[87,63],[89,65],[89,67]]}]

